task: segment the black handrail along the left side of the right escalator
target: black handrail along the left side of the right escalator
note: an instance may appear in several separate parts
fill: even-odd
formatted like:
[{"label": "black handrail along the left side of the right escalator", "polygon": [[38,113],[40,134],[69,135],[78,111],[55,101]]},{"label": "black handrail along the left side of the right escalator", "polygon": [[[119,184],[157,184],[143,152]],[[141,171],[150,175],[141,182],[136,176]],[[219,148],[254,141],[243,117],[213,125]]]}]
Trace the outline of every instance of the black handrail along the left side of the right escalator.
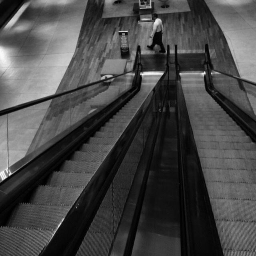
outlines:
[{"label": "black handrail along the left side of the right escalator", "polygon": [[182,255],[223,256],[178,70],[176,74]]}]

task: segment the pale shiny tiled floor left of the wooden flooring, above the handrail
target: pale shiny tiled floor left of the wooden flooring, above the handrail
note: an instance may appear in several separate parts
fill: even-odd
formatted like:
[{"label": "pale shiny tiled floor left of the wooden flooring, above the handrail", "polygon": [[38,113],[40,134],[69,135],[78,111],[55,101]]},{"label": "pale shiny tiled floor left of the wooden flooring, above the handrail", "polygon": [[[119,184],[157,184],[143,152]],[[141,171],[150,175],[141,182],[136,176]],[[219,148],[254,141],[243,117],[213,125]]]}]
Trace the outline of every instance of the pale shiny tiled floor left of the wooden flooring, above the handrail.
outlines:
[{"label": "pale shiny tiled floor left of the wooden flooring, above the handrail", "polygon": [[74,54],[86,4],[27,1],[0,30],[0,110],[56,92]]}]

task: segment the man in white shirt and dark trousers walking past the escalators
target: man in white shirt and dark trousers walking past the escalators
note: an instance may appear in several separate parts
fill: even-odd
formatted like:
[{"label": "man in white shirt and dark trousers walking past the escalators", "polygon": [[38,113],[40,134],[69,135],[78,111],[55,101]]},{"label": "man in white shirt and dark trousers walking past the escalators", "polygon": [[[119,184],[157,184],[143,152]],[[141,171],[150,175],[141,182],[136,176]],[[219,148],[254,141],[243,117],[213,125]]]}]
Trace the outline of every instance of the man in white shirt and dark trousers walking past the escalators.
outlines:
[{"label": "man in white shirt and dark trousers walking past the escalators", "polygon": [[159,52],[165,52],[165,48],[164,48],[164,44],[162,42],[162,34],[164,32],[164,27],[162,24],[162,20],[160,20],[157,16],[156,13],[154,13],[152,15],[152,19],[154,20],[154,24],[153,24],[153,30],[152,33],[150,35],[150,38],[153,38],[152,40],[152,44],[151,45],[147,45],[148,48],[150,48],[151,50],[153,50],[154,46],[156,44],[158,44],[161,48],[161,50]]}]

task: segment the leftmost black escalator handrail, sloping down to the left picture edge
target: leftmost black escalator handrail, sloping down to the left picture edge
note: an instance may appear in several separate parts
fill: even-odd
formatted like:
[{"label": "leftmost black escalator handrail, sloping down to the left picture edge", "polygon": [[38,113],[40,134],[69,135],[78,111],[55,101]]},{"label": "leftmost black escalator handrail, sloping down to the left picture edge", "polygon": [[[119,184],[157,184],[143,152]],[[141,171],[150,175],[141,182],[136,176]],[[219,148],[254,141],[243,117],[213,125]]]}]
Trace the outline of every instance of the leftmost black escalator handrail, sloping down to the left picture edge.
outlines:
[{"label": "leftmost black escalator handrail, sloping down to the left picture edge", "polygon": [[138,57],[138,56],[140,56],[140,47],[139,46],[137,48],[136,57],[135,57],[135,60],[138,61],[138,62],[134,62],[133,70],[130,70],[128,72],[124,72],[122,74],[118,74],[118,75],[112,76],[110,78],[106,78],[106,79],[102,79],[102,80],[97,80],[97,81],[91,82],[89,84],[84,84],[82,86],[79,86],[78,88],[74,88],[74,89],[71,89],[71,90],[68,90],[68,91],[65,91],[65,92],[60,92],[60,93],[52,94],[52,95],[49,95],[49,96],[42,97],[40,99],[31,100],[29,102],[25,102],[25,103],[18,104],[16,106],[13,106],[13,107],[10,107],[10,108],[6,108],[4,110],[0,110],[0,116],[6,115],[6,114],[10,114],[10,113],[16,112],[18,110],[22,110],[24,108],[28,108],[28,107],[34,106],[34,105],[46,102],[48,100],[53,100],[53,99],[56,99],[56,98],[60,98],[61,96],[68,95],[68,94],[73,93],[73,92],[78,92],[78,91],[80,91],[80,90],[82,90],[84,88],[88,88],[88,87],[93,86],[95,84],[100,84],[102,82],[111,80],[111,79],[116,78],[118,76],[123,76],[125,74],[132,73],[132,72],[136,71],[136,68],[138,67],[138,65],[140,65],[140,57]]}]

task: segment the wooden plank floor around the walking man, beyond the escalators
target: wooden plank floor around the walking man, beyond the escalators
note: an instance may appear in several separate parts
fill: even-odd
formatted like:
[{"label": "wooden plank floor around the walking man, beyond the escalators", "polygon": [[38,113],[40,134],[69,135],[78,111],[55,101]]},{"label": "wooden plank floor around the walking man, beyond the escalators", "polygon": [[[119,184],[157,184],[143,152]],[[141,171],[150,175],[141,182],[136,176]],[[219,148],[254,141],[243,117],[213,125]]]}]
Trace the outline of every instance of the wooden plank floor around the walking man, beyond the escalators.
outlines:
[{"label": "wooden plank floor around the walking man, beyond the escalators", "polygon": [[[171,49],[214,48],[214,67],[238,75],[224,34],[204,0],[188,0],[191,12],[159,14],[164,24],[164,45]],[[89,0],[76,52],[58,88],[58,92],[76,88],[100,78],[104,60],[121,58],[118,31],[128,30],[130,52],[137,45],[146,50],[152,23],[137,23],[137,17],[101,18],[104,0]]]}]

